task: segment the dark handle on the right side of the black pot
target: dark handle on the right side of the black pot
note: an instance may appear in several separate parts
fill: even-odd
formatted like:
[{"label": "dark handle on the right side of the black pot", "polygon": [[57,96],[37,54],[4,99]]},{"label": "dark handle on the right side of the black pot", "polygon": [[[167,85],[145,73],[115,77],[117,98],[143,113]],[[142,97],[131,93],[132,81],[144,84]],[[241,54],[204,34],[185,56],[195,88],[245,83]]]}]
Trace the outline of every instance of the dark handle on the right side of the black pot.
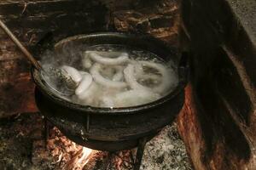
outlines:
[{"label": "dark handle on the right side of the black pot", "polygon": [[178,64],[178,77],[183,86],[189,82],[189,52],[182,52]]}]

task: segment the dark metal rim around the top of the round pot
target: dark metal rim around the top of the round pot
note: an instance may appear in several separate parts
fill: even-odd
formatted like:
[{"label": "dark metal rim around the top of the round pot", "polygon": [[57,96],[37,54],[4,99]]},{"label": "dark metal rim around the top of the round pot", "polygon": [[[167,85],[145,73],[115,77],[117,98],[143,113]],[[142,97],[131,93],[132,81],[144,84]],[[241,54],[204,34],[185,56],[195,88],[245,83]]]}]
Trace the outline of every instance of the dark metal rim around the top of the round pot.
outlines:
[{"label": "dark metal rim around the top of the round pot", "polygon": [[[90,34],[80,34],[73,37],[67,37],[62,39],[61,41],[55,43],[55,47],[58,44],[61,44],[63,42],[76,40],[76,39],[83,39],[84,37],[99,37],[99,36],[115,36],[115,37],[148,37],[151,40],[157,41],[162,43],[161,45],[165,46],[166,48],[172,49],[173,47],[170,47],[166,42],[162,42],[157,38],[152,37],[149,34],[134,34],[134,33],[125,33],[125,32],[96,32],[96,33],[90,33]],[[176,88],[172,90],[169,94],[166,94],[164,97],[154,100],[153,102],[144,104],[144,105],[135,105],[130,107],[118,107],[118,108],[103,108],[103,107],[94,107],[90,105],[79,105],[72,103],[71,101],[68,101],[67,99],[63,99],[61,97],[58,97],[57,94],[54,94],[51,92],[51,90],[45,90],[47,89],[46,85],[42,82],[42,80],[39,78],[39,71],[37,71],[33,66],[31,70],[32,79],[35,82],[37,88],[46,96],[48,99],[50,99],[52,102],[61,105],[62,107],[66,107],[68,109],[72,109],[75,111],[82,111],[86,112],[87,114],[96,114],[96,115],[128,115],[128,114],[135,114],[140,111],[149,110],[155,107],[158,107],[164,103],[166,103],[169,100],[172,100],[177,94],[181,93],[183,91],[183,88],[186,85],[186,78],[185,75],[179,73],[180,65],[177,66],[177,76],[178,76],[178,83]]]}]

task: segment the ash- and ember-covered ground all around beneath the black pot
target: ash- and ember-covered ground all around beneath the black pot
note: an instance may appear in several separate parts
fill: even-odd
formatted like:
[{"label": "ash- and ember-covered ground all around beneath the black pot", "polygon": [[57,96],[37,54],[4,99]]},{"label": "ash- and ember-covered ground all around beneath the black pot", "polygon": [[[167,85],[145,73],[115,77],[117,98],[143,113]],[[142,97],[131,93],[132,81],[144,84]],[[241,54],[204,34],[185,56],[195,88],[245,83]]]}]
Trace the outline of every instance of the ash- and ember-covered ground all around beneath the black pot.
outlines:
[{"label": "ash- and ember-covered ground all around beneath the black pot", "polygon": [[[145,146],[141,170],[192,169],[176,123],[165,127]],[[83,147],[51,127],[44,140],[44,121],[38,114],[0,119],[0,169],[131,170],[137,149],[115,153],[91,150],[81,160]],[[78,163],[79,162],[79,163]]]}]

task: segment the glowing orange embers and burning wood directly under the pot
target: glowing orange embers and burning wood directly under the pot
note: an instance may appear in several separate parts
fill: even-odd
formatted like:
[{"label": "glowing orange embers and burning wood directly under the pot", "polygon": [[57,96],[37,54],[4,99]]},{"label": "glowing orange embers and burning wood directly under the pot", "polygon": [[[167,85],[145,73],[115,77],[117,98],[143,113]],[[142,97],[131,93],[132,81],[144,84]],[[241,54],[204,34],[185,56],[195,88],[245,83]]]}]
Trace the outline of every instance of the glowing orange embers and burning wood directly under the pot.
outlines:
[{"label": "glowing orange embers and burning wood directly under the pot", "polygon": [[136,150],[104,152],[91,150],[67,139],[56,127],[50,129],[47,148],[50,164],[60,170],[132,169]]}]

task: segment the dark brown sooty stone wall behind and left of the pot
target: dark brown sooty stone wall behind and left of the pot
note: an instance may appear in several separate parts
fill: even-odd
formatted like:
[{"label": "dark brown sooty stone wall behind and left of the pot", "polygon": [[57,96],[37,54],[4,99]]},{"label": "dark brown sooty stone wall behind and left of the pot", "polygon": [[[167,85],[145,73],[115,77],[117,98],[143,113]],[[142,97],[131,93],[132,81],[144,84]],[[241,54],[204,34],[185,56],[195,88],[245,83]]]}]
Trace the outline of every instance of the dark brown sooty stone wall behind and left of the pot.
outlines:
[{"label": "dark brown sooty stone wall behind and left of the pot", "polygon": [[[176,0],[3,0],[0,18],[28,48],[54,32],[55,40],[93,31],[147,32],[177,45]],[[30,65],[0,29],[0,117],[37,111]]]}]

